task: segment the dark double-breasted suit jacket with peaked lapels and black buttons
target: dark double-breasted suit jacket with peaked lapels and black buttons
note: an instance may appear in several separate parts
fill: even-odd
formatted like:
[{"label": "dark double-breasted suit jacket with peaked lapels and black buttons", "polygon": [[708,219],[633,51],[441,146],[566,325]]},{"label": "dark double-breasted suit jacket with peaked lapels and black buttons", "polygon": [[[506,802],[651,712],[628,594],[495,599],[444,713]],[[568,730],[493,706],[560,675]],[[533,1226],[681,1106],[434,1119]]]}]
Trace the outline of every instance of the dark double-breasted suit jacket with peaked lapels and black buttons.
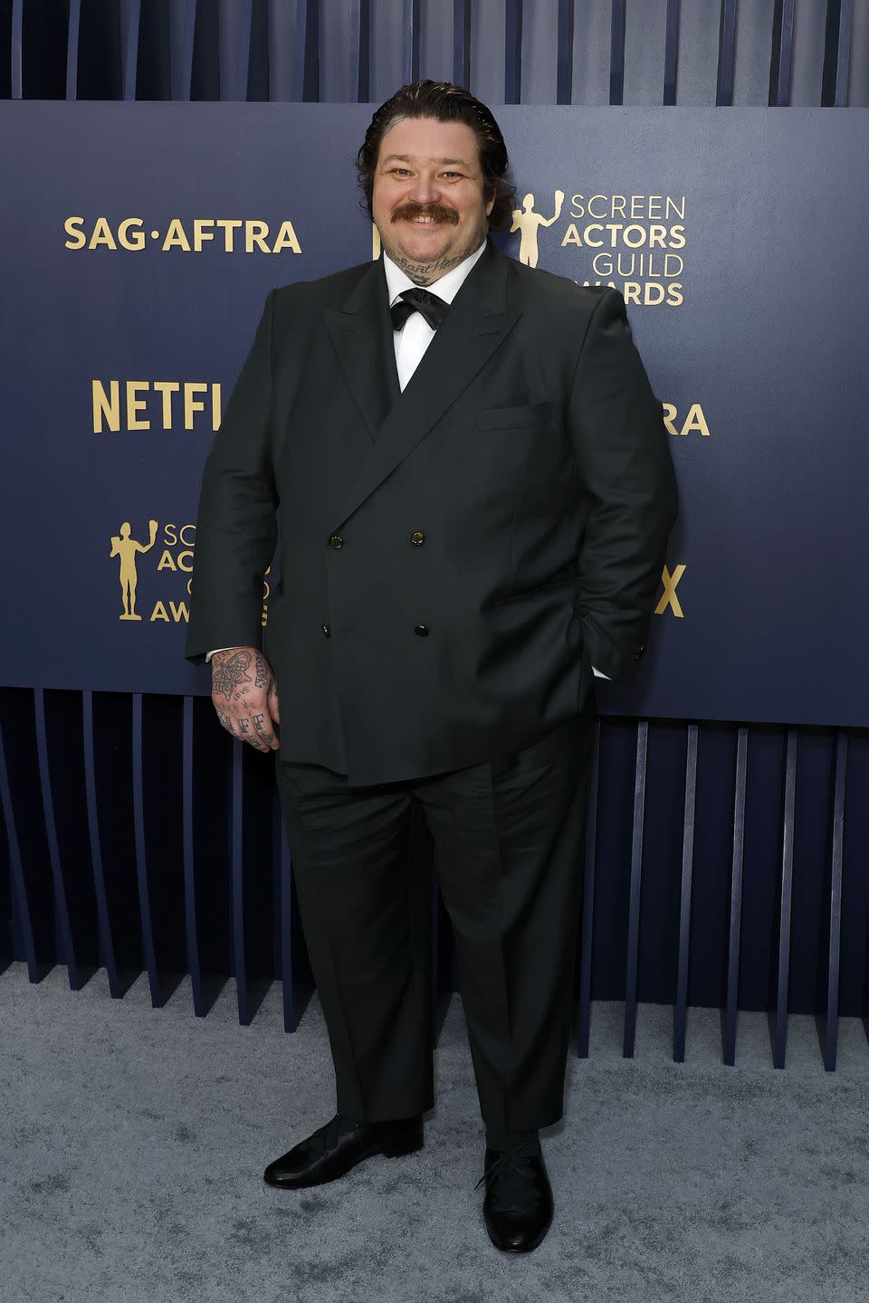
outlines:
[{"label": "dark double-breasted suit jacket with peaked lapels and black buttons", "polygon": [[616,291],[489,241],[401,392],[382,262],[284,285],[206,461],[186,654],[263,645],[283,760],[476,765],[582,710],[593,665],[632,678],[675,509]]}]

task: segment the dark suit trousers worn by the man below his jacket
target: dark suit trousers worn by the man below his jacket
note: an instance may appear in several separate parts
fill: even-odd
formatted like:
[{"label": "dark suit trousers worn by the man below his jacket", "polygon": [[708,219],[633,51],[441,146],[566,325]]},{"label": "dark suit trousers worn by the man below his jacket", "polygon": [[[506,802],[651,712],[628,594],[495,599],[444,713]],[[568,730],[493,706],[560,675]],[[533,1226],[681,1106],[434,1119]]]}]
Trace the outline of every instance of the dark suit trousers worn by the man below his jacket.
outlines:
[{"label": "dark suit trousers worn by the man below his jacket", "polygon": [[593,736],[589,704],[499,761],[358,787],[278,760],[339,1113],[378,1122],[434,1106],[431,882],[408,855],[423,818],[483,1122],[524,1131],[562,1117]]}]

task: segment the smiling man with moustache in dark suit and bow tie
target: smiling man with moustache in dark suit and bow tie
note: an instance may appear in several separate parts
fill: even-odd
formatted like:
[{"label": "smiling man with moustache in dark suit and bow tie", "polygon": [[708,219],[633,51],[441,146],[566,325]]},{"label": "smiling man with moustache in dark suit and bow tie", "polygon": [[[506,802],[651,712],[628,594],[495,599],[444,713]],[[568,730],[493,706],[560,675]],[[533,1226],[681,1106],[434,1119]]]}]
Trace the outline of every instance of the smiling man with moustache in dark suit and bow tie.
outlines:
[{"label": "smiling man with moustache in dark suit and bow tie", "polygon": [[[447,83],[371,119],[383,257],[272,289],[208,456],[188,655],[278,784],[337,1114],[266,1169],[332,1181],[434,1106],[425,817],[456,941],[492,1242],[552,1217],[593,671],[645,650],[675,486],[615,291],[522,267],[491,112]],[[434,287],[434,292],[429,289]],[[262,577],[279,581],[261,649]]]}]

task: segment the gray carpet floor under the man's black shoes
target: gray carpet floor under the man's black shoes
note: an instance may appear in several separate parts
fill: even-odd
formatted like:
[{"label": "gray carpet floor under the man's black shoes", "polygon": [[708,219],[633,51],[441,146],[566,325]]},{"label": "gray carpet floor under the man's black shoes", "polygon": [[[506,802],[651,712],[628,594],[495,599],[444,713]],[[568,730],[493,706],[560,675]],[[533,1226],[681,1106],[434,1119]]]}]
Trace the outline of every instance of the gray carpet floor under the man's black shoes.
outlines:
[{"label": "gray carpet floor under the man's black shoes", "polygon": [[189,985],[163,1010],[145,979],[112,1001],[56,968],[0,975],[3,1303],[551,1303],[869,1296],[869,1049],[842,1027],[825,1074],[812,1019],[770,1066],[743,1015],[736,1068],[718,1015],[692,1010],[688,1062],[670,1014],[640,1012],[620,1057],[615,1005],[568,1066],[565,1119],[543,1134],[555,1222],[502,1255],[481,1220],[483,1132],[461,1002],[438,1049],[426,1148],[344,1181],[274,1191],[263,1166],[334,1113],[319,1006],[281,1031],[280,989],[238,1027],[228,985],[207,1019]]}]

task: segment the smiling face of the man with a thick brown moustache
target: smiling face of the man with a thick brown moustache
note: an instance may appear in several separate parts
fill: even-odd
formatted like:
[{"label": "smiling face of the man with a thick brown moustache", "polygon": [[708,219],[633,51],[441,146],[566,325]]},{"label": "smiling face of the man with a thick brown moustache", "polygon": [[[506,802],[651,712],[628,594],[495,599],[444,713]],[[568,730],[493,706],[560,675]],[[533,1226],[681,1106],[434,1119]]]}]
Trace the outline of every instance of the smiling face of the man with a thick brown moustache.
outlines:
[{"label": "smiling face of the man with a thick brown moustache", "polygon": [[386,133],[371,211],[380,244],[417,285],[431,285],[479,248],[494,198],[465,122],[405,117]]}]

